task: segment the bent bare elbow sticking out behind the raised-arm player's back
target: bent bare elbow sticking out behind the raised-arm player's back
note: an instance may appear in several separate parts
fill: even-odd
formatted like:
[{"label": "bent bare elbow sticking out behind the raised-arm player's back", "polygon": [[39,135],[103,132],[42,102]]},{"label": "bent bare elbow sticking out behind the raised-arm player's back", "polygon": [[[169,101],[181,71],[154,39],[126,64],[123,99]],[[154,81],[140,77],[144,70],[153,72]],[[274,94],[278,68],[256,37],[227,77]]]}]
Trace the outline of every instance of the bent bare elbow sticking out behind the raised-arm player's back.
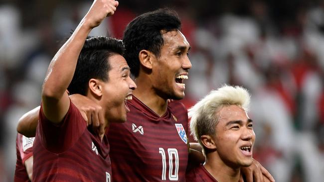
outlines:
[{"label": "bent bare elbow sticking out behind the raised-arm player's back", "polygon": [[36,134],[36,127],[38,124],[38,113],[40,106],[30,110],[20,117],[17,132],[26,136],[34,137]]}]

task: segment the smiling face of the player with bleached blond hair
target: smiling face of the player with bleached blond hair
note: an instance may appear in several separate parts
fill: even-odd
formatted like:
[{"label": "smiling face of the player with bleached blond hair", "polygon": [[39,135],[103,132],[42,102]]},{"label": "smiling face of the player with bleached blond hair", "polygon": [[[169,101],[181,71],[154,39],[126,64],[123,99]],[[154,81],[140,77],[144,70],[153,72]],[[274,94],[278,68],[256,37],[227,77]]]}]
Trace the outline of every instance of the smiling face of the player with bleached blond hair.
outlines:
[{"label": "smiling face of the player with bleached blond hair", "polygon": [[255,141],[252,120],[237,105],[224,106],[217,115],[214,141],[219,158],[235,168],[250,166]]}]

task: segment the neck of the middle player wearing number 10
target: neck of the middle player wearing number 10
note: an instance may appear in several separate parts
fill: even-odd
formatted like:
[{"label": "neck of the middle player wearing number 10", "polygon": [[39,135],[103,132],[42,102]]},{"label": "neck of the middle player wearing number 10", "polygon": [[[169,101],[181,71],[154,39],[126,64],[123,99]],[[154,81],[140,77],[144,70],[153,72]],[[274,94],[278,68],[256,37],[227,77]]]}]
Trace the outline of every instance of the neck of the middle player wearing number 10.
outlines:
[{"label": "neck of the middle player wearing number 10", "polygon": [[137,89],[133,94],[156,114],[162,116],[166,112],[167,100],[157,94],[147,79],[139,77],[136,78],[135,83]]}]

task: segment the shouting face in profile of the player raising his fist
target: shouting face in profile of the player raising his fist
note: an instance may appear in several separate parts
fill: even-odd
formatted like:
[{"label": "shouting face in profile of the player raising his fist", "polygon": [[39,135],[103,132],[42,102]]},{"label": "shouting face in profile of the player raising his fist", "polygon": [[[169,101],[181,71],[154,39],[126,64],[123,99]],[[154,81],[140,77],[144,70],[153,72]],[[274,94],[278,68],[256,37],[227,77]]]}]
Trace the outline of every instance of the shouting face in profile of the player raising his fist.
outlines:
[{"label": "shouting face in profile of the player raising his fist", "polygon": [[123,56],[114,54],[109,58],[111,66],[108,81],[102,82],[102,99],[106,107],[106,118],[110,122],[125,122],[129,108],[127,99],[132,99],[136,84],[130,78],[130,69]]}]

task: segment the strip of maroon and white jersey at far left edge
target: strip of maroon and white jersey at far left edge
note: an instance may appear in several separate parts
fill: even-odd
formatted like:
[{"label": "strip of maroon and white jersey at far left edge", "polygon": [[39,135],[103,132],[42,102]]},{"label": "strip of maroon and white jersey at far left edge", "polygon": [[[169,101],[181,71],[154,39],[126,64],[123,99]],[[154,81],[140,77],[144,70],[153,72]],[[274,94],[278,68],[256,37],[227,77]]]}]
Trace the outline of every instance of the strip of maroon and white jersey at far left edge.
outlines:
[{"label": "strip of maroon and white jersey at far left edge", "polygon": [[20,133],[17,134],[17,162],[14,172],[14,182],[30,182],[24,163],[32,156],[34,138],[35,137],[27,138]]}]

